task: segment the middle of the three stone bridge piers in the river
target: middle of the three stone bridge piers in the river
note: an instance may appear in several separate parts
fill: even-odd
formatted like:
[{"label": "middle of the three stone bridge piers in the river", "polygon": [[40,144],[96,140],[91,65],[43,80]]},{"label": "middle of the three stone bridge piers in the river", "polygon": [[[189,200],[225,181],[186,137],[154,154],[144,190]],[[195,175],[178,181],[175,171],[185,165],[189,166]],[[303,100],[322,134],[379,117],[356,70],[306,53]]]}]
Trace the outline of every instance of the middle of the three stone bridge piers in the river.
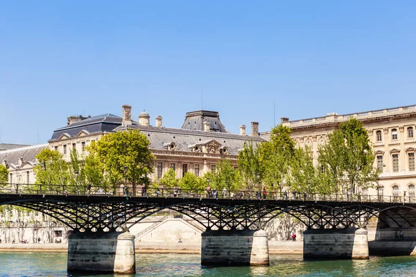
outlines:
[{"label": "middle of the three stone bridge piers in the river", "polygon": [[268,233],[259,231],[205,231],[201,265],[269,265]]}]

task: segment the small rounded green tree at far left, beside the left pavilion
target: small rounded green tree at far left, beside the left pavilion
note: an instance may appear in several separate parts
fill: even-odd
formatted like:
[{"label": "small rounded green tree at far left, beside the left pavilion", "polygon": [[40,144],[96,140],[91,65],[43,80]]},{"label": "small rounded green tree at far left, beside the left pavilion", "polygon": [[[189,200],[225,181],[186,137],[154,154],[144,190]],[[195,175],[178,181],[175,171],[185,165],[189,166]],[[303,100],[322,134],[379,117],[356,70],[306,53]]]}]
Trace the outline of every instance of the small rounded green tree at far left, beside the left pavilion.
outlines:
[{"label": "small rounded green tree at far left, beside the left pavilion", "polygon": [[66,185],[69,179],[68,175],[68,163],[62,159],[62,154],[56,150],[50,150],[49,148],[41,150],[37,155],[37,164],[33,168],[36,174],[36,184],[34,188],[49,192],[52,190],[62,190],[58,186],[50,185]]}]

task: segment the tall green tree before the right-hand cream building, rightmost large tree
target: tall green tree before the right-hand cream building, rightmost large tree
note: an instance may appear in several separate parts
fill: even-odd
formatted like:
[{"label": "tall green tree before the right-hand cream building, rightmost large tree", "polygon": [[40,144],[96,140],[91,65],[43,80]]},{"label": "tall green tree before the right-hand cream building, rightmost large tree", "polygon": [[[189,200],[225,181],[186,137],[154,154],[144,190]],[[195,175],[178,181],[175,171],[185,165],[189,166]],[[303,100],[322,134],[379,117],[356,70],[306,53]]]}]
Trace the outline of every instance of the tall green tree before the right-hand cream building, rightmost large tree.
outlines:
[{"label": "tall green tree before the right-hand cream building, rightmost large tree", "polygon": [[378,170],[374,168],[374,152],[367,130],[361,121],[350,118],[328,136],[319,148],[319,163],[324,167],[336,190],[358,193],[374,184]]}]

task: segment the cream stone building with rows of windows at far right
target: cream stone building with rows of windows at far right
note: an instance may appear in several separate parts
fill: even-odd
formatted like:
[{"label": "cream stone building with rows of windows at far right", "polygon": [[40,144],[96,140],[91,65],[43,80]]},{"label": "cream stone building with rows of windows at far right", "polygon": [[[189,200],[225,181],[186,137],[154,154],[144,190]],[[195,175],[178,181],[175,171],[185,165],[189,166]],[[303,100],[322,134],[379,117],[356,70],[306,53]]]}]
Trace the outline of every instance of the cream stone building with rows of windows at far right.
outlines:
[{"label": "cream stone building with rows of windows at far right", "polygon": [[[367,129],[370,143],[376,154],[374,167],[382,170],[378,184],[363,191],[367,195],[416,196],[416,106],[395,107],[364,111],[355,114],[336,113],[317,118],[289,120],[281,118],[284,126],[291,127],[292,137],[300,147],[309,145],[314,158],[318,157],[318,145],[325,143],[327,136],[349,118],[360,120]],[[270,138],[270,132],[260,134]],[[314,159],[316,161],[316,159]]]}]

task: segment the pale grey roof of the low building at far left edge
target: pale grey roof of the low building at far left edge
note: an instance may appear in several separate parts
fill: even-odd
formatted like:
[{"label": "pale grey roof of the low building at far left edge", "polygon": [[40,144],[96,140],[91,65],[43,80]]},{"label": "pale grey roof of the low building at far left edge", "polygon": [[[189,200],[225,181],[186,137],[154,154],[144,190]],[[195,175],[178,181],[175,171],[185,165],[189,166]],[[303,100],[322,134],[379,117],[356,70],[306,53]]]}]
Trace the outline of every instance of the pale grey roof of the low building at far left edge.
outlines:
[{"label": "pale grey roof of the low building at far left edge", "polygon": [[35,163],[35,156],[45,148],[48,148],[48,144],[30,145],[23,148],[1,151],[0,163],[6,160],[8,166],[13,165],[16,167],[15,165],[17,165],[20,157],[23,157],[24,162]]}]

